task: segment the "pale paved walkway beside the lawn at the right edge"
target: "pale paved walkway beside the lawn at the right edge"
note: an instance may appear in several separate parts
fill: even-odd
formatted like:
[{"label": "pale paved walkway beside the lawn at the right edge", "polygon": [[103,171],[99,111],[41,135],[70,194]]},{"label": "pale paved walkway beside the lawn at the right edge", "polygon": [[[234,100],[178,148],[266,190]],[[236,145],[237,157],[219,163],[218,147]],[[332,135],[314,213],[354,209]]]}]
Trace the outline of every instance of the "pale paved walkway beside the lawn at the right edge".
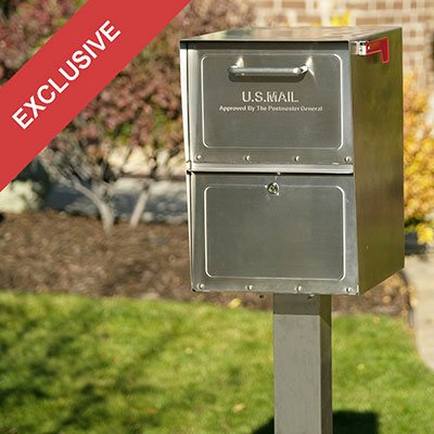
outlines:
[{"label": "pale paved walkway beside the lawn at the right edge", "polygon": [[406,257],[406,276],[416,288],[414,328],[418,349],[434,369],[434,253]]}]

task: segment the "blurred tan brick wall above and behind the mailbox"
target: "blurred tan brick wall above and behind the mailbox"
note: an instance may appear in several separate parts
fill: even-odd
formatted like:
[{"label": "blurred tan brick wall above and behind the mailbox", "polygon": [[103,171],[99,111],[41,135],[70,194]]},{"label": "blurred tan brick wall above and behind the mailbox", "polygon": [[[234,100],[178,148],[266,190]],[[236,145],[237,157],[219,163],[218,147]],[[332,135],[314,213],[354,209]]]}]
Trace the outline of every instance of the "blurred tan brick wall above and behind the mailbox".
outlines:
[{"label": "blurred tan brick wall above and behind the mailbox", "polygon": [[405,72],[434,90],[434,0],[252,0],[256,25],[398,25]]}]

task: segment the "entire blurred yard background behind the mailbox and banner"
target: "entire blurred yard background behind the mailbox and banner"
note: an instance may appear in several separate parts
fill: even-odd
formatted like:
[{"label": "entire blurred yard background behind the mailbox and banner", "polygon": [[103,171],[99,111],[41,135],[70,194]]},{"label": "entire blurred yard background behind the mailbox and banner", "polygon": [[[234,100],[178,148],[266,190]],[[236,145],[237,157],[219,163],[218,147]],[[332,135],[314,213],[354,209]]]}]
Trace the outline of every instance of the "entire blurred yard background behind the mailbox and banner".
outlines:
[{"label": "entire blurred yard background behind the mailbox and banner", "polygon": [[[0,0],[0,85],[84,3]],[[272,433],[270,297],[190,291],[178,46],[277,25],[403,26],[408,260],[334,297],[335,432],[433,432],[434,1],[193,0],[0,193],[0,433]]]}]

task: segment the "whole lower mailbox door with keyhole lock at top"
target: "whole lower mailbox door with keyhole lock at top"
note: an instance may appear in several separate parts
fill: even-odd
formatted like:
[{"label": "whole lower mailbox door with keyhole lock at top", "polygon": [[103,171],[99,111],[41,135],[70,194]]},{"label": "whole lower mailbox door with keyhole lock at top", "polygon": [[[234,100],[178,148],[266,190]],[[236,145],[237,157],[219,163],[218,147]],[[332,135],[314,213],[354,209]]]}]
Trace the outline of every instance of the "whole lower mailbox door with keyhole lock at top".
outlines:
[{"label": "whole lower mailbox door with keyhole lock at top", "polygon": [[352,176],[192,175],[193,285],[343,293],[356,284]]}]

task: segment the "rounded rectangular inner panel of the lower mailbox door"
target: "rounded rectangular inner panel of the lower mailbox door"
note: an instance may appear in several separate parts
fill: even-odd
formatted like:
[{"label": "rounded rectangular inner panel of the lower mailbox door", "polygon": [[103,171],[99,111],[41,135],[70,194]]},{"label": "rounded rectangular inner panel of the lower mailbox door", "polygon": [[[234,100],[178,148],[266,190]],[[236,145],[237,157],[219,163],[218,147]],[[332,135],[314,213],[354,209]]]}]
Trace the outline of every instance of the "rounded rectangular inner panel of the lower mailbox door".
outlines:
[{"label": "rounded rectangular inner panel of the lower mailbox door", "polygon": [[288,180],[270,186],[270,191],[255,182],[206,188],[206,273],[342,279],[344,192],[336,186],[294,186]]}]

